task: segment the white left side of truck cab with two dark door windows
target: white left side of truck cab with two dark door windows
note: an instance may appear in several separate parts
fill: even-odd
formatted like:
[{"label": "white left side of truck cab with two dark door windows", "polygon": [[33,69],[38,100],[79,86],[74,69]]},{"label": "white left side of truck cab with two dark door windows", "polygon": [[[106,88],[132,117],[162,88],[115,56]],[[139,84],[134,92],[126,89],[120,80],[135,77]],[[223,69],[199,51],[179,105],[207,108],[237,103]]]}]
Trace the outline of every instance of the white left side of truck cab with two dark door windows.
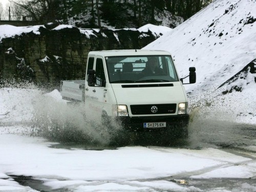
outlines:
[{"label": "white left side of truck cab with two dark door windows", "polygon": [[[100,116],[102,113],[102,108],[104,106],[104,85],[105,85],[105,70],[103,65],[103,58],[99,56],[92,57],[93,60],[88,61],[88,69],[92,68],[95,70],[96,81],[95,87],[89,87],[88,82],[86,82],[85,88],[85,104],[87,109],[89,110],[90,115],[93,117]],[[88,71],[88,70],[87,70]],[[88,78],[88,75],[87,75]],[[88,111],[87,110],[87,111]],[[88,113],[87,113],[88,114]],[[96,117],[99,118],[99,117]]]}]

